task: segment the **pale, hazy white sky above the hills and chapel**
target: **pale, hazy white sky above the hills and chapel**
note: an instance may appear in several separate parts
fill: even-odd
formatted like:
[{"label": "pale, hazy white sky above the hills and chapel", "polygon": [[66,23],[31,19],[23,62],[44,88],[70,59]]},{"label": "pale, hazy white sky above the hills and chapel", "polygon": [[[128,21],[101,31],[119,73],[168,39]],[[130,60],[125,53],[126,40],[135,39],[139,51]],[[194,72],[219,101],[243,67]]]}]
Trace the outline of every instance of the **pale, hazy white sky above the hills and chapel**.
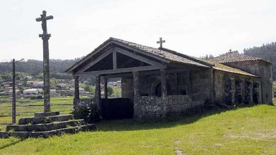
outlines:
[{"label": "pale, hazy white sky above the hills and chapel", "polygon": [[42,10],[50,59],[87,55],[109,37],[191,56],[243,52],[276,41],[275,0],[13,0],[0,2],[0,62],[43,59]]}]

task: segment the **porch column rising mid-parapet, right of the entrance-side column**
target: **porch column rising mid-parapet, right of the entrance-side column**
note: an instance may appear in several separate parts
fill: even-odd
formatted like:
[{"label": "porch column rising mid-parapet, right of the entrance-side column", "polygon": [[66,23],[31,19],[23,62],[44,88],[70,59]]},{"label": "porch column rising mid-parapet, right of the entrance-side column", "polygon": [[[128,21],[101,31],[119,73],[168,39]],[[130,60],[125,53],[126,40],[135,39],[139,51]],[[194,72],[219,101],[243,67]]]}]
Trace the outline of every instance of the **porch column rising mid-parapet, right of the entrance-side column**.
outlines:
[{"label": "porch column rising mid-parapet, right of the entrance-side column", "polygon": [[160,75],[161,75],[161,113],[162,113],[162,117],[165,117],[166,115],[166,98],[167,98],[167,89],[166,89],[166,70],[165,69],[160,69]]}]

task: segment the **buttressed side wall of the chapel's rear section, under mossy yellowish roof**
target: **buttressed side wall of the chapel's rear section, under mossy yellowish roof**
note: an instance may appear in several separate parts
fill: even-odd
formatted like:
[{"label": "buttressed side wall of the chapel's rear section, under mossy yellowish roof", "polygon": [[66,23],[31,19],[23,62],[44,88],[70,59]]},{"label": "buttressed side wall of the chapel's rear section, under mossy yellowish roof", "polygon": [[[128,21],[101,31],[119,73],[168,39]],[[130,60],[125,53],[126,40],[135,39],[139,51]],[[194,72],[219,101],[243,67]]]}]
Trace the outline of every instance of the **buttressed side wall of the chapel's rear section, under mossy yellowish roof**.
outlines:
[{"label": "buttressed side wall of the chapel's rear section, under mossy yellowish roof", "polygon": [[261,78],[215,70],[214,100],[217,103],[227,105],[248,104],[253,101],[261,103],[262,90],[260,84]]}]

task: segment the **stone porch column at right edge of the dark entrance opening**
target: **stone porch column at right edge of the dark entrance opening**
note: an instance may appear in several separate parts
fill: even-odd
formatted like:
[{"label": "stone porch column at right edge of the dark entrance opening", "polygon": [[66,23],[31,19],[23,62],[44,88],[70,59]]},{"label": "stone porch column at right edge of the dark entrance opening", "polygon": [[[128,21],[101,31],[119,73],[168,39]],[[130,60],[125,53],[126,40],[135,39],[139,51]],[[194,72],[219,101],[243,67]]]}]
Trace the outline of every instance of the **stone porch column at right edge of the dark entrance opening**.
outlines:
[{"label": "stone porch column at right edge of the dark entrance opening", "polygon": [[139,96],[140,96],[140,86],[139,86],[139,72],[133,72],[133,119],[135,121],[140,121],[141,117],[144,115],[141,112],[141,106],[139,105]]}]

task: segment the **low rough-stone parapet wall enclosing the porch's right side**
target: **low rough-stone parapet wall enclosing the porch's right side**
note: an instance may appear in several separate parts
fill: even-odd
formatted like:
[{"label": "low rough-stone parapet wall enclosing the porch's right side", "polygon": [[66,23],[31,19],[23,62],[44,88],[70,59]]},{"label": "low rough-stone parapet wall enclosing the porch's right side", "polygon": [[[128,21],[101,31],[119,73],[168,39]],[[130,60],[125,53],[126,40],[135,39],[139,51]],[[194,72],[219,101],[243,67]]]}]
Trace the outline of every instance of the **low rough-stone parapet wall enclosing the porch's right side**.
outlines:
[{"label": "low rough-stone parapet wall enclosing the porch's right side", "polygon": [[134,104],[133,118],[137,121],[158,120],[171,115],[181,115],[199,106],[203,106],[203,101],[192,101],[188,95],[166,96],[164,103],[162,97],[140,96]]}]

